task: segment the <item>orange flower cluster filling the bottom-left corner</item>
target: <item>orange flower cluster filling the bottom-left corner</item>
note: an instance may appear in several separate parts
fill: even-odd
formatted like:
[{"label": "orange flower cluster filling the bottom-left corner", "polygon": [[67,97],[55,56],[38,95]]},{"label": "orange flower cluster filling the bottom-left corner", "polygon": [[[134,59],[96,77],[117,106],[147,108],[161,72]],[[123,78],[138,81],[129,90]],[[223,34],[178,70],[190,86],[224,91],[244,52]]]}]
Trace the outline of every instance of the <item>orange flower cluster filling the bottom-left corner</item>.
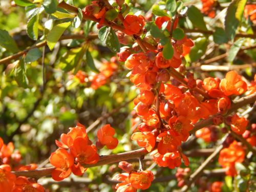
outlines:
[{"label": "orange flower cluster filling the bottom-left corner", "polygon": [[22,165],[20,160],[22,156],[18,151],[14,151],[12,142],[4,144],[0,137],[0,191],[16,192],[16,191],[36,191],[44,192],[45,189],[35,180],[24,176],[16,177],[11,170],[32,170],[36,169],[36,164]]}]

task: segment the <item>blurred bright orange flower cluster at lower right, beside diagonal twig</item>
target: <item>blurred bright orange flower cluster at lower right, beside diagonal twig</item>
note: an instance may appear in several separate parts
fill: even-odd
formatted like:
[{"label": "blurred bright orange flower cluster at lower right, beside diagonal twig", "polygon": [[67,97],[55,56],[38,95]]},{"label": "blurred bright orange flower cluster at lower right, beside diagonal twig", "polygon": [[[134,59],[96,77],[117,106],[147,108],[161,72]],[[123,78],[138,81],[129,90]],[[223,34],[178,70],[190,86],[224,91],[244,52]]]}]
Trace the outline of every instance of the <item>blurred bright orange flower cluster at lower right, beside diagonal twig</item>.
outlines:
[{"label": "blurred bright orange flower cluster at lower right, beside diagonal twig", "polygon": [[237,175],[234,165],[236,162],[241,163],[244,161],[245,152],[243,146],[234,140],[228,148],[223,148],[220,152],[219,163],[223,168],[226,168],[226,175]]}]

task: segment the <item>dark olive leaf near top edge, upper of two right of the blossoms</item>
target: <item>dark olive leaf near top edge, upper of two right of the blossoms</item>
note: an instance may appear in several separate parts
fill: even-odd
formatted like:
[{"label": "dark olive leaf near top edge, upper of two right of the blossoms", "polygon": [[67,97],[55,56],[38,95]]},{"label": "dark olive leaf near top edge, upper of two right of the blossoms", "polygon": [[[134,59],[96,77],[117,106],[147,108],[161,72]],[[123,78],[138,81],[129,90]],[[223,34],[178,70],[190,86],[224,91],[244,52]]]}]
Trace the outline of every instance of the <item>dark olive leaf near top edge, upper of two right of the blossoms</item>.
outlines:
[{"label": "dark olive leaf near top edge, upper of two right of the blossoms", "polygon": [[204,23],[203,14],[194,5],[188,8],[187,16],[194,27],[201,30],[207,30],[206,25]]}]

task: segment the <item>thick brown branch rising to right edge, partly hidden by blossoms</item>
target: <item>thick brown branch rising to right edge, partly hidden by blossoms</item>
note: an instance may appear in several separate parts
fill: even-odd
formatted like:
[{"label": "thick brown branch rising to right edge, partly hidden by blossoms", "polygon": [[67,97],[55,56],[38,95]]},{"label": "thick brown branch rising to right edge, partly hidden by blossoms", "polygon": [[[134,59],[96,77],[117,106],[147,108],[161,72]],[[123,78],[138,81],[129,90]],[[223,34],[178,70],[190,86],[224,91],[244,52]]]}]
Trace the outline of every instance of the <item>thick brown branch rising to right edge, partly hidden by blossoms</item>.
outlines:
[{"label": "thick brown branch rising to right edge, partly hidden by blossoms", "polygon": [[[242,106],[246,105],[246,104],[250,104],[250,103],[254,103],[256,100],[256,93],[242,97],[241,99],[238,99],[237,101],[234,101],[234,103],[231,105],[230,110],[227,112],[227,114],[225,116],[228,116],[229,114],[231,114],[234,111],[237,111],[239,108],[241,108]],[[207,119],[201,120],[199,122],[197,122],[195,124],[195,127],[193,130],[191,130],[189,133],[193,134],[195,133],[197,130],[202,129],[205,126],[211,125],[213,122],[212,120],[214,119],[215,116],[210,116]]]}]

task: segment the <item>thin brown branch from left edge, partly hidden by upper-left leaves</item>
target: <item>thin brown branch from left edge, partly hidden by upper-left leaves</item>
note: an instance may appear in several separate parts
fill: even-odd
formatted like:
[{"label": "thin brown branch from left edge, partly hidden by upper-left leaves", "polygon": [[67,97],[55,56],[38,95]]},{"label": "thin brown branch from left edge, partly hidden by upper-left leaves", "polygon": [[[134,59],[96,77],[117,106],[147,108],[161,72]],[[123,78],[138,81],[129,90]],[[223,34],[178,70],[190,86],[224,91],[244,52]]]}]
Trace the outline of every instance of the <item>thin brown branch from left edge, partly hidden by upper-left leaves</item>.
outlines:
[{"label": "thin brown branch from left edge, partly hidden by upper-left leaves", "polygon": [[[65,40],[65,39],[95,39],[98,37],[98,34],[90,34],[88,35],[88,37],[85,37],[84,35],[79,35],[79,34],[76,34],[76,35],[63,35],[59,38],[59,40]],[[23,51],[20,51],[18,53],[15,53],[13,55],[10,55],[8,57],[5,57],[3,59],[0,59],[0,65],[3,64],[3,63],[8,63],[10,62],[12,59],[16,59],[24,54],[26,54],[29,50],[31,49],[34,49],[34,48],[40,48],[40,47],[43,47],[43,46],[46,46],[47,45],[47,42],[46,40],[44,41],[41,41],[41,42],[38,42],[37,44],[23,50]]]}]

